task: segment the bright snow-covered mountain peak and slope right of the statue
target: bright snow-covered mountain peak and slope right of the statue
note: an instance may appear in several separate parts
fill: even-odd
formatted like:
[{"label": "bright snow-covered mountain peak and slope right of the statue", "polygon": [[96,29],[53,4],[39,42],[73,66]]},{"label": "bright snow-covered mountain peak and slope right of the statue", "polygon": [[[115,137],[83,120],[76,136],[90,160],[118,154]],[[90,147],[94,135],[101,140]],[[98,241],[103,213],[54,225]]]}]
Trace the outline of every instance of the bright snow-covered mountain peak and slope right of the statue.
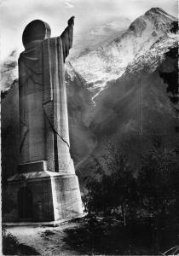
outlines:
[{"label": "bright snow-covered mountain peak and slope right of the statue", "polygon": [[75,58],[73,55],[70,59],[72,66],[87,81],[95,98],[108,81],[124,74],[132,61],[144,57],[146,53],[158,55],[157,48],[162,49],[162,44],[165,44],[165,49],[167,44],[176,44],[176,37],[170,37],[173,21],[176,18],[163,9],[150,9],[134,20],[125,32],[111,38],[110,42],[97,45],[95,49],[86,49]]}]

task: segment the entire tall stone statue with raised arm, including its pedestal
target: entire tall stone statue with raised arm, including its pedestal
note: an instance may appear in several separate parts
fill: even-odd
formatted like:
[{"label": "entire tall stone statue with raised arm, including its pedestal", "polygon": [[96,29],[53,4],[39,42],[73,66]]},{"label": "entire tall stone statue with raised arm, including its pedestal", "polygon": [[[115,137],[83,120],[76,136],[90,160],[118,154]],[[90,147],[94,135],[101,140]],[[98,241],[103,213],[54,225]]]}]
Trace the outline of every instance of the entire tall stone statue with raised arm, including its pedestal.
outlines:
[{"label": "entire tall stone statue with raised arm, including its pedestal", "polygon": [[50,221],[83,213],[70,155],[64,62],[72,47],[74,17],[60,37],[33,20],[19,57],[20,165],[9,177],[9,221]]}]

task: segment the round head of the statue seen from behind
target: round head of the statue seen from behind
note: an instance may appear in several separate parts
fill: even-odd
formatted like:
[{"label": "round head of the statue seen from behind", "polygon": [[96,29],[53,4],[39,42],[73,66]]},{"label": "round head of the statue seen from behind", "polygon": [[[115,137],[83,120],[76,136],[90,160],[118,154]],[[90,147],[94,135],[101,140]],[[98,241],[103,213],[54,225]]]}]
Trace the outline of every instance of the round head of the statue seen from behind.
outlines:
[{"label": "round head of the statue seen from behind", "polygon": [[51,29],[49,24],[44,22],[43,20],[33,20],[30,22],[22,35],[22,43],[26,48],[26,45],[36,41],[36,40],[44,40],[46,38],[50,38]]}]

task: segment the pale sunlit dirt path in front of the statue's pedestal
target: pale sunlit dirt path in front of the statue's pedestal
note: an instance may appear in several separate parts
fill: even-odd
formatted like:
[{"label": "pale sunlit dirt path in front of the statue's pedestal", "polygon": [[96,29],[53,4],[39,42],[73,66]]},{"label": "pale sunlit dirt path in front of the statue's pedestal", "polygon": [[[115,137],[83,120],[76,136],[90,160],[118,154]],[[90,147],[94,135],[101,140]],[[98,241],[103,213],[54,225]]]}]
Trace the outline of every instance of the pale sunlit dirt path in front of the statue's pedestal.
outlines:
[{"label": "pale sunlit dirt path in front of the statue's pedestal", "polygon": [[76,225],[61,224],[58,227],[11,226],[7,227],[7,231],[16,236],[20,243],[33,247],[40,255],[82,255],[79,252],[72,251],[63,241],[66,236],[64,230]]}]

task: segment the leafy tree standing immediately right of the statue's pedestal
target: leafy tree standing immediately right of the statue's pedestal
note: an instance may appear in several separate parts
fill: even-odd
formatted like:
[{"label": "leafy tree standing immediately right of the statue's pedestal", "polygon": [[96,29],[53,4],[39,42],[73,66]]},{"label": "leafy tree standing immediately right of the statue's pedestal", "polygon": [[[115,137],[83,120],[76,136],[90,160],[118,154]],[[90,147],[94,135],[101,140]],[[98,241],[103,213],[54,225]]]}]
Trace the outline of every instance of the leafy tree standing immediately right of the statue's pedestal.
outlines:
[{"label": "leafy tree standing immediately right of the statue's pedestal", "polygon": [[128,160],[109,142],[101,162],[94,157],[95,177],[87,177],[86,212],[120,213],[124,224],[136,206],[136,179]]}]

